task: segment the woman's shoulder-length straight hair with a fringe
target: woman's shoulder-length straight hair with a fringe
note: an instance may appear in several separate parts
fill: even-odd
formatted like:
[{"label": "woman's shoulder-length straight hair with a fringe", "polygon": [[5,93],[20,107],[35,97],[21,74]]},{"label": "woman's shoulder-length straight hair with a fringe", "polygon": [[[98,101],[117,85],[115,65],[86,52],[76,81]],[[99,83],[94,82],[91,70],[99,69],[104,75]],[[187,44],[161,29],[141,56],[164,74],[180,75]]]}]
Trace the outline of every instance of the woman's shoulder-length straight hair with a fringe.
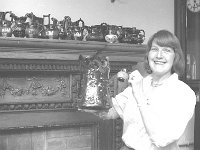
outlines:
[{"label": "woman's shoulder-length straight hair with a fringe", "polygon": [[174,50],[175,58],[171,73],[177,73],[179,76],[182,76],[185,69],[185,59],[183,51],[181,49],[180,41],[173,33],[167,30],[160,30],[156,32],[150,37],[147,42],[147,53],[145,56],[145,69],[147,70],[147,72],[152,73],[149,66],[148,55],[153,42],[159,46],[170,47]]}]

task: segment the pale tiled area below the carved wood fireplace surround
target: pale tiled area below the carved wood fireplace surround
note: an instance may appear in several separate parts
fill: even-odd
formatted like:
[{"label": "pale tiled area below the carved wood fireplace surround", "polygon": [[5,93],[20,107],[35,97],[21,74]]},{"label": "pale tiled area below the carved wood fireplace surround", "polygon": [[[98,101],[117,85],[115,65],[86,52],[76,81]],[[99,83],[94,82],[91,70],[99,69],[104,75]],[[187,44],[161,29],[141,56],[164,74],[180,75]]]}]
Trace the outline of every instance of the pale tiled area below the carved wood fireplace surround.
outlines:
[{"label": "pale tiled area below the carved wood fireplace surround", "polygon": [[4,130],[1,150],[96,150],[98,125]]}]

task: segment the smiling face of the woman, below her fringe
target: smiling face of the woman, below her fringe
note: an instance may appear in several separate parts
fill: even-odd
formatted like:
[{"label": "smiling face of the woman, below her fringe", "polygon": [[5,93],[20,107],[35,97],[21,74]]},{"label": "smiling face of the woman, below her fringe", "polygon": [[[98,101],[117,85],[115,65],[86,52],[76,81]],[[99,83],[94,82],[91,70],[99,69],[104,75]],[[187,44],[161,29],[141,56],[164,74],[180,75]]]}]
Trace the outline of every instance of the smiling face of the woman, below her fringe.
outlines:
[{"label": "smiling face of the woman, below her fringe", "polygon": [[152,74],[156,76],[170,75],[174,58],[175,53],[172,48],[161,47],[153,42],[148,55]]}]

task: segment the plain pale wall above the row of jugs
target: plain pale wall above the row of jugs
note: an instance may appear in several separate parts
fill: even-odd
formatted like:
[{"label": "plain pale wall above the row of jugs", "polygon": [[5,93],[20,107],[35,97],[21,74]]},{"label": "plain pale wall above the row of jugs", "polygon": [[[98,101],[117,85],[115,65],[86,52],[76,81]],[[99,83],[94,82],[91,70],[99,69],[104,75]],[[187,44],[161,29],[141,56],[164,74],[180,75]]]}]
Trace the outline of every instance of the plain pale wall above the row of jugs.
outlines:
[{"label": "plain pale wall above the row of jugs", "polygon": [[174,32],[174,0],[1,0],[0,11],[12,11],[17,16],[51,14],[58,20],[70,16],[72,21],[82,18],[86,25],[106,22],[137,27],[146,33],[144,43],[159,29]]}]

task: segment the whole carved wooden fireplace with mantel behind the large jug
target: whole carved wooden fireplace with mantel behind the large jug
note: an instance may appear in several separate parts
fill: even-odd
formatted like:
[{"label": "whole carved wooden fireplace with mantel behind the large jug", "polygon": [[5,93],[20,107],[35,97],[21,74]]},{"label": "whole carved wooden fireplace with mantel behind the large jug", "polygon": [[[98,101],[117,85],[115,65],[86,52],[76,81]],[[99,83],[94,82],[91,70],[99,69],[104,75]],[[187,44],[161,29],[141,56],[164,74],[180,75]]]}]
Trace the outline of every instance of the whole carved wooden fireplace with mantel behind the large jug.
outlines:
[{"label": "whole carved wooden fireplace with mantel behind the large jug", "polygon": [[110,60],[110,91],[116,73],[143,61],[145,45],[0,38],[1,150],[118,150],[120,119],[104,121],[78,110],[79,55],[99,52]]}]

